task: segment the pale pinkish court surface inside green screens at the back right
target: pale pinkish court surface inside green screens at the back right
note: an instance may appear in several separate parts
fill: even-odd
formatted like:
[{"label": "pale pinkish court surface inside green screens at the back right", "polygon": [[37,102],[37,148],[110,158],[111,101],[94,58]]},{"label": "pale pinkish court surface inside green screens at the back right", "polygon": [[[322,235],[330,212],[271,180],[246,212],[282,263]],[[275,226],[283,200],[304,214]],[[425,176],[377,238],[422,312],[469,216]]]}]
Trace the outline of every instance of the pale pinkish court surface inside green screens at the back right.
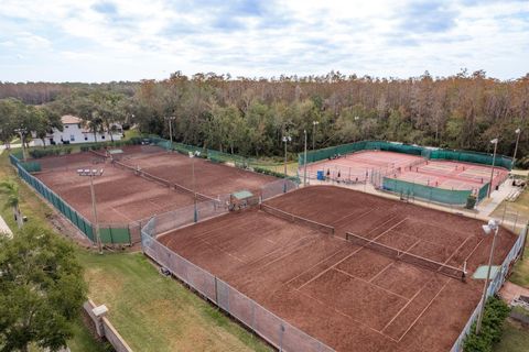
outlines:
[{"label": "pale pinkish court surface inside green screens at the back right", "polygon": [[[343,155],[332,161],[307,165],[307,175],[316,177],[317,170],[334,180],[366,182],[373,170],[390,178],[444,189],[479,189],[490,180],[492,167],[452,161],[425,161],[421,156],[382,151],[363,151]],[[300,175],[304,172],[300,169]],[[339,175],[339,177],[338,177]],[[493,188],[507,178],[508,170],[496,167]]]}]

